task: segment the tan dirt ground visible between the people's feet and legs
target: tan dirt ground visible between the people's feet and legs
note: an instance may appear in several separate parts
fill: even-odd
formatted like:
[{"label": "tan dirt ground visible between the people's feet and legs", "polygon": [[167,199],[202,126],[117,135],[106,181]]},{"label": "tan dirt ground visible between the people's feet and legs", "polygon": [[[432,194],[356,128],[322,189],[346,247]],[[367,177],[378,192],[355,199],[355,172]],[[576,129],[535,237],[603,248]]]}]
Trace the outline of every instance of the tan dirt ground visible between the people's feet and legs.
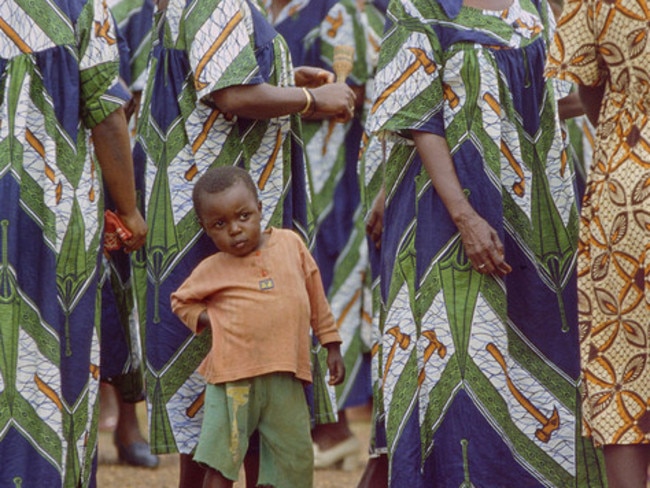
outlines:
[{"label": "tan dirt ground visible between the people's feet and legs", "polygon": [[[142,406],[142,409],[140,409]],[[144,405],[138,405],[141,426],[146,426]],[[368,445],[370,437],[370,421],[364,412],[349,415],[350,427],[361,441],[362,446]],[[316,470],[314,473],[314,488],[354,488],[361,479],[365,463],[368,459],[365,447],[362,449],[359,467],[354,471],[344,472],[338,469]],[[178,486],[178,457],[165,455],[160,457],[160,465],[156,469],[135,468],[119,464],[117,452],[113,446],[113,434],[100,432],[99,436],[99,468],[97,471],[98,488],[177,488]],[[235,488],[244,488],[244,476],[235,483]],[[199,488],[199,487],[197,487]]]}]

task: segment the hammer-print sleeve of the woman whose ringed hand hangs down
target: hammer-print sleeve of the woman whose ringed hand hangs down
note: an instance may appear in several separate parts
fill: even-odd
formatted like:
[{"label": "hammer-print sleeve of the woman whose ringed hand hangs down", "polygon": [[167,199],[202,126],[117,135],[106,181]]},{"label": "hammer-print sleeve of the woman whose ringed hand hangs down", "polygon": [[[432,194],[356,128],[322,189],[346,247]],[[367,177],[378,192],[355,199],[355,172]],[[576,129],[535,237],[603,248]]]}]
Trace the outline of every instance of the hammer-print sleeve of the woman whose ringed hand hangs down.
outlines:
[{"label": "hammer-print sleeve of the woman whose ringed hand hangs down", "polygon": [[442,52],[431,28],[405,15],[391,2],[398,21],[387,30],[379,53],[369,131],[406,142],[410,130],[444,134]]}]

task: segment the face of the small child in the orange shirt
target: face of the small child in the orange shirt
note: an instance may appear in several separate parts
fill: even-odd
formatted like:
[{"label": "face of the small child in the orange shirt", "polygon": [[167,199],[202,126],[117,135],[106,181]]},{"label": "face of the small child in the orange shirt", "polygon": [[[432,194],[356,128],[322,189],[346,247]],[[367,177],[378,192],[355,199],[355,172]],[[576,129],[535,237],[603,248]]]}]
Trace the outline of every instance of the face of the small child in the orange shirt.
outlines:
[{"label": "face of the small child in the orange shirt", "polygon": [[201,195],[201,224],[220,251],[246,256],[262,244],[262,202],[241,181]]}]

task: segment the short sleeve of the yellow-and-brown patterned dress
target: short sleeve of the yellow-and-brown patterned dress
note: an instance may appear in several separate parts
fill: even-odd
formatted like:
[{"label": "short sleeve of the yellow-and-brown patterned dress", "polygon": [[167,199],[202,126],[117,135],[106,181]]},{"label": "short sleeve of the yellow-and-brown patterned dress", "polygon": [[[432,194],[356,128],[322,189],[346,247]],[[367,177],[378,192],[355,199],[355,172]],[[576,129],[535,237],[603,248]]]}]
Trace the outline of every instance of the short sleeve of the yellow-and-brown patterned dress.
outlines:
[{"label": "short sleeve of the yellow-and-brown patterned dress", "polygon": [[597,86],[607,78],[598,56],[594,0],[567,1],[549,48],[546,75],[580,85]]}]

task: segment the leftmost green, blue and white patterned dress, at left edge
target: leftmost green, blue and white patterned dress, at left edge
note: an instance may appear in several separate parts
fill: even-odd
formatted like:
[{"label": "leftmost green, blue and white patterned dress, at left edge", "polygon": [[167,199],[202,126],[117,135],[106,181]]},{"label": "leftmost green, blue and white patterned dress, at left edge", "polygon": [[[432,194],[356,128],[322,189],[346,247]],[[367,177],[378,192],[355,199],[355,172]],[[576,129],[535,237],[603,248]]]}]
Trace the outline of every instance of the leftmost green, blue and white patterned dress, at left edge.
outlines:
[{"label": "leftmost green, blue and white patterned dress, at left edge", "polygon": [[0,486],[94,482],[102,180],[118,109],[106,5],[0,2]]}]

